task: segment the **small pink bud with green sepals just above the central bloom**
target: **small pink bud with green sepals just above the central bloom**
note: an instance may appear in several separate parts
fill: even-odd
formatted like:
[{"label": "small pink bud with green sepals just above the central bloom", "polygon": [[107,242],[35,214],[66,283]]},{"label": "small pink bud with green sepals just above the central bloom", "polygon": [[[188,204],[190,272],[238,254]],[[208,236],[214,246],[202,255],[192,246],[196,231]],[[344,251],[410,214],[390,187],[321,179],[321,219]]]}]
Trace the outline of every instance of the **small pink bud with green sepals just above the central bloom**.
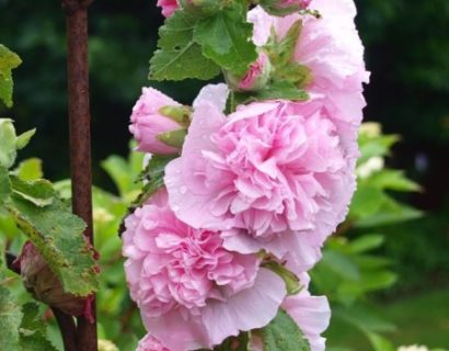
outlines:
[{"label": "small pink bud with green sepals just above the central bloom", "polygon": [[230,71],[225,71],[225,77],[229,87],[233,90],[256,91],[266,86],[270,70],[272,64],[268,56],[261,53],[243,76],[238,77]]}]

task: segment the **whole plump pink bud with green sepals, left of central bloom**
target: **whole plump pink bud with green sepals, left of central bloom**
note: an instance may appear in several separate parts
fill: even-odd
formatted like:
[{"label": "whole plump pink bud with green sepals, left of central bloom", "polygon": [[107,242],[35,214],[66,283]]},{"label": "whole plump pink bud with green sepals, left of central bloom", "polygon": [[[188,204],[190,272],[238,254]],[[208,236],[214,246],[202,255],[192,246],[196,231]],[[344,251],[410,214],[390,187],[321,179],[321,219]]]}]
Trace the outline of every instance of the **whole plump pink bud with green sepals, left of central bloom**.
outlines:
[{"label": "whole plump pink bud with green sepals, left of central bloom", "polygon": [[171,155],[181,150],[189,110],[152,88],[143,88],[133,109],[129,131],[142,152]]}]

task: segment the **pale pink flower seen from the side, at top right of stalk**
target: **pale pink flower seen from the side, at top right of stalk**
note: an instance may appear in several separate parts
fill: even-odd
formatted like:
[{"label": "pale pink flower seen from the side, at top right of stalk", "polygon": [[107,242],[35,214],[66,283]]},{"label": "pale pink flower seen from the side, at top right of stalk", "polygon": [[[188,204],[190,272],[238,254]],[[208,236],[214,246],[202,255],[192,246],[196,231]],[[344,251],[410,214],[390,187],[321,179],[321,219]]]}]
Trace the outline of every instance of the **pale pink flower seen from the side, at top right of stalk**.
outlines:
[{"label": "pale pink flower seen from the side, at top right of stalk", "polygon": [[[312,82],[306,89],[326,97],[326,104],[334,110],[333,117],[359,124],[362,107],[362,83],[369,80],[365,69],[364,46],[354,24],[357,13],[353,0],[314,0],[313,9],[321,18],[291,14],[286,18],[268,15],[257,7],[250,11],[254,23],[253,41],[264,45],[272,27],[283,37],[291,24],[302,20],[302,29],[293,59],[312,72]],[[274,64],[274,63],[273,63]]]}]

